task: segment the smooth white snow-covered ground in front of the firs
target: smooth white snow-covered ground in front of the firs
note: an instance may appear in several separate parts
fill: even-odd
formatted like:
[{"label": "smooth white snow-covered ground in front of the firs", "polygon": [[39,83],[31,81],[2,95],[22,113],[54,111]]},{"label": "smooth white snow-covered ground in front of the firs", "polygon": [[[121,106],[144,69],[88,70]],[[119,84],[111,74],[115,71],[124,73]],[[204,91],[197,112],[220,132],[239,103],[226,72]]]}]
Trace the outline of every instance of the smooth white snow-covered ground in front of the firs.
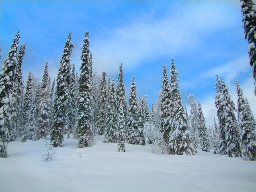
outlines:
[{"label": "smooth white snow-covered ground in front of the firs", "polygon": [[127,152],[122,153],[117,143],[102,139],[96,136],[90,147],[81,149],[77,140],[65,139],[50,162],[39,155],[45,150],[43,140],[10,142],[9,157],[0,158],[0,191],[256,191],[256,162],[202,151],[195,156],[152,154],[149,144],[125,143]]}]

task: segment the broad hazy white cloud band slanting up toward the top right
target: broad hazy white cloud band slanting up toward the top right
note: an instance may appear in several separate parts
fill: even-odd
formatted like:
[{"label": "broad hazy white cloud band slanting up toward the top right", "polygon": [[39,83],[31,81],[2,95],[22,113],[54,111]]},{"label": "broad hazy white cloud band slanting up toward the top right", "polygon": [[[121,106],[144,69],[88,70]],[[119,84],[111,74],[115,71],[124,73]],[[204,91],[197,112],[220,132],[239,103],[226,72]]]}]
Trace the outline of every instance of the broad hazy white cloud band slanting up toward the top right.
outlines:
[{"label": "broad hazy white cloud band slanting up toward the top right", "polygon": [[[225,10],[224,4],[218,9],[214,6],[216,3],[190,2],[178,11],[170,6],[170,10],[158,18],[154,18],[156,10],[153,8],[152,12],[140,15],[133,23],[109,29],[107,33],[111,36],[91,42],[94,69],[97,72],[106,69],[108,74],[113,74],[117,73],[120,63],[125,69],[133,70],[156,57],[172,57],[196,49],[202,36],[228,28],[235,22],[232,12]],[[80,49],[76,51],[80,54]]]}]

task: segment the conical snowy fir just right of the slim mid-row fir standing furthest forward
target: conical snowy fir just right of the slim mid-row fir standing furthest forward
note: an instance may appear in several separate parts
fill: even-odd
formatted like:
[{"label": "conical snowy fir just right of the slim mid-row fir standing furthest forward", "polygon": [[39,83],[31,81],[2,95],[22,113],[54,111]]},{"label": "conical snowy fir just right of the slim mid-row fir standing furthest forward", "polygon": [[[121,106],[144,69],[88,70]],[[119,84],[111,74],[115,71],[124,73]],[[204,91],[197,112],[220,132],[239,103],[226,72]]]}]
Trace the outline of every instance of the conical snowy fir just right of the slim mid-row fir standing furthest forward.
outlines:
[{"label": "conical snowy fir just right of the slim mid-row fir standing furthest forward", "polygon": [[137,91],[136,91],[134,77],[131,80],[131,87],[130,87],[126,141],[129,144],[135,144],[135,145],[139,144],[138,103],[137,103]]}]

